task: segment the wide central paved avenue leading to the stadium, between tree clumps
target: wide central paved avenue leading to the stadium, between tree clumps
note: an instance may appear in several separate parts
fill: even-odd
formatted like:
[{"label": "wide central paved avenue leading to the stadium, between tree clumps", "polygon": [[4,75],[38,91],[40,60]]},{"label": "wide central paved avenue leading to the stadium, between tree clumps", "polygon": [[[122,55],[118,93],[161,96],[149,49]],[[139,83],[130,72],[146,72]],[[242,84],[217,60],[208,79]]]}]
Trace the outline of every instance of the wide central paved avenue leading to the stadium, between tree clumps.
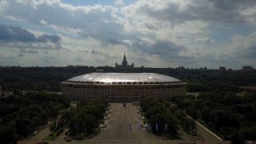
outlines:
[{"label": "wide central paved avenue leading to the stadium, between tree clumps", "polygon": [[[145,128],[138,129],[139,123],[142,125],[142,120],[139,119],[141,114],[138,114],[138,109],[132,104],[126,104],[123,107],[122,103],[111,103],[113,109],[107,115],[110,119],[106,120],[106,128],[102,129],[98,136],[86,140],[86,143],[178,143],[178,141],[162,140],[154,134],[148,134]],[[130,129],[130,126],[131,129]],[[179,141],[181,142],[181,141]],[[187,141],[186,141],[187,142]]]}]

